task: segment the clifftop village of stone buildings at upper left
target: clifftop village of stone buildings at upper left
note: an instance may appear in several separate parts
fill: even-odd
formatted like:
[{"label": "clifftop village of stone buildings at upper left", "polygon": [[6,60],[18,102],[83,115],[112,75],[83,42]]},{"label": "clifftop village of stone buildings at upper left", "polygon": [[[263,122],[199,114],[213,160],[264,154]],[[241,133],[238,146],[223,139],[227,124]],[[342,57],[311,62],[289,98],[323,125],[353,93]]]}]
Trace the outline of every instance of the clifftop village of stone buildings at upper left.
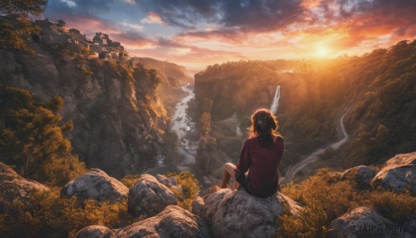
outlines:
[{"label": "clifftop village of stone buildings at upper left", "polygon": [[98,32],[90,39],[85,34],[81,34],[76,28],[69,28],[62,19],[57,22],[51,22],[47,18],[35,20],[35,25],[42,28],[39,40],[48,44],[51,48],[64,45],[69,51],[87,53],[103,60],[118,62],[128,62],[130,58],[121,43],[110,40],[107,34]]}]

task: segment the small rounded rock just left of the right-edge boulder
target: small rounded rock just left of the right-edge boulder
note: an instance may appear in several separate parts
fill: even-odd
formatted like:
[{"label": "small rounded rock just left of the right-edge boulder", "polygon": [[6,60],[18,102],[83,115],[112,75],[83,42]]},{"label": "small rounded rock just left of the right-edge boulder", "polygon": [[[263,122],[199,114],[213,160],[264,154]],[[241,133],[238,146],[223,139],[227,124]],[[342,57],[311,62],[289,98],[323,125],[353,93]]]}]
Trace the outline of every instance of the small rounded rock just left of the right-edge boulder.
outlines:
[{"label": "small rounded rock just left of the right-edge boulder", "polygon": [[371,180],[376,175],[377,171],[371,167],[360,165],[351,169],[347,169],[341,176],[341,180],[353,180],[358,187],[366,189],[370,187]]}]

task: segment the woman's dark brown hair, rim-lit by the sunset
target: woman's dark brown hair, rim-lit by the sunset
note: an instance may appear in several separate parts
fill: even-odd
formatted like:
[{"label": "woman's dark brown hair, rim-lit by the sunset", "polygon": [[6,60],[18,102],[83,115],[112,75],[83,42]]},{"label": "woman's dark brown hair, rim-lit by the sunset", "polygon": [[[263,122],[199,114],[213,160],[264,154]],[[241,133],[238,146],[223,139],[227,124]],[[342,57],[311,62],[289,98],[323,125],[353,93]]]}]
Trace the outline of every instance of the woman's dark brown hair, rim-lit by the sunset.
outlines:
[{"label": "woman's dark brown hair, rim-lit by the sunset", "polygon": [[270,148],[272,144],[275,144],[277,137],[281,137],[277,133],[277,128],[275,114],[266,108],[261,108],[252,114],[248,137],[259,137],[261,147]]}]

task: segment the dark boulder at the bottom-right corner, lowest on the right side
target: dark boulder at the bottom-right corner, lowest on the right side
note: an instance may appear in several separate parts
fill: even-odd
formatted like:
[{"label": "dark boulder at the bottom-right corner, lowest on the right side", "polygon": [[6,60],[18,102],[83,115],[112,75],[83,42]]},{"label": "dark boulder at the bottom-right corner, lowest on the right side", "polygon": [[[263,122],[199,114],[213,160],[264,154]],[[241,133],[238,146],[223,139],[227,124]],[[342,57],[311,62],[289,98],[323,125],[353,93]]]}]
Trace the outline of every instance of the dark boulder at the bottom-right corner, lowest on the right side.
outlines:
[{"label": "dark boulder at the bottom-right corner, lowest on the right side", "polygon": [[399,228],[372,208],[357,207],[331,222],[329,237],[413,237]]}]

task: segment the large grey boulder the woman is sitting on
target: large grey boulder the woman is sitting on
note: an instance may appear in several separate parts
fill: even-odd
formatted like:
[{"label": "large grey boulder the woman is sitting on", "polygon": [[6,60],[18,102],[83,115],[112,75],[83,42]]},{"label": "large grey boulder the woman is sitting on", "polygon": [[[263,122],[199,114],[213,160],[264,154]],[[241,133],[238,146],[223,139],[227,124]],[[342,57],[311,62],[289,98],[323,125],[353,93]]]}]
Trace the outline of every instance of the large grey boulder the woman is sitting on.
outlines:
[{"label": "large grey boulder the woman is sitting on", "polygon": [[[286,203],[289,211],[285,211]],[[220,189],[198,199],[193,212],[211,224],[214,237],[272,237],[277,232],[276,219],[284,212],[297,214],[301,207],[281,193],[258,198],[244,189]]]}]

